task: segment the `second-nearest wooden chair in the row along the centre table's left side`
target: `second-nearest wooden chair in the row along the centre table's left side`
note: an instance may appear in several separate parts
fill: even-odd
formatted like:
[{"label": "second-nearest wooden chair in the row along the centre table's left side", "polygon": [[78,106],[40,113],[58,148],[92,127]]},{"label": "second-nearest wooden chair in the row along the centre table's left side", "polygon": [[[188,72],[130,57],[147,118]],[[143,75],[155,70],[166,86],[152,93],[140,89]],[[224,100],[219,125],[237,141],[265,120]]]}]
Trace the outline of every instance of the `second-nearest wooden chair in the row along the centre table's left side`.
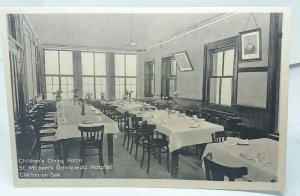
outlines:
[{"label": "second-nearest wooden chair in the row along the centre table's left side", "polygon": [[137,159],[137,153],[138,153],[138,146],[139,142],[143,139],[142,138],[142,117],[131,117],[132,127],[134,129],[132,140],[131,140],[131,147],[130,147],[130,154],[132,152],[133,144],[135,144],[135,156],[134,158]]}]

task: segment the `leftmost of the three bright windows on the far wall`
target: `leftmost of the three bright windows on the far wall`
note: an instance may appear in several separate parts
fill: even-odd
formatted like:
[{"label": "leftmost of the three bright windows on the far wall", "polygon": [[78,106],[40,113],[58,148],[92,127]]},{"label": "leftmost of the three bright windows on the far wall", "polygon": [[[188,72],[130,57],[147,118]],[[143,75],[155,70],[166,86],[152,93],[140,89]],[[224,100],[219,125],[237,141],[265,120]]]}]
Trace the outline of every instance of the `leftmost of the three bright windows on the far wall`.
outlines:
[{"label": "leftmost of the three bright windows on the far wall", "polygon": [[72,99],[74,90],[73,52],[45,50],[46,94],[54,100],[53,93],[62,90],[62,99]]}]

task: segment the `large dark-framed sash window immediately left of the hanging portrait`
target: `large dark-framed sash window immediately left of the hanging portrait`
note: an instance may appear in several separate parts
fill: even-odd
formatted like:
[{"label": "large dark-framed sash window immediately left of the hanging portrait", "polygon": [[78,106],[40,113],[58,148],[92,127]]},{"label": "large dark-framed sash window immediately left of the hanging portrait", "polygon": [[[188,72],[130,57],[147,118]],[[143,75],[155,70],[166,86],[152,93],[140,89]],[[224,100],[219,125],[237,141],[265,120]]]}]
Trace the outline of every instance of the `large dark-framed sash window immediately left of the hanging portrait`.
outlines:
[{"label": "large dark-framed sash window immediately left of the hanging portrait", "polygon": [[206,46],[205,101],[207,104],[231,106],[234,100],[236,38]]}]

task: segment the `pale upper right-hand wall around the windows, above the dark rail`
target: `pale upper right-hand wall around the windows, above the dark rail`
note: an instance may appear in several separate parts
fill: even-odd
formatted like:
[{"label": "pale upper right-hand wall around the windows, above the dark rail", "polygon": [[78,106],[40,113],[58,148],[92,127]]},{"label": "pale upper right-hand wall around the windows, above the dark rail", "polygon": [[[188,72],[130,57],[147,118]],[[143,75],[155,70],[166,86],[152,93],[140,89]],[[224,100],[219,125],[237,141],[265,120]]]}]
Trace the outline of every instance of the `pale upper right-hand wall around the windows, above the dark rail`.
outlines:
[{"label": "pale upper right-hand wall around the windows, above the dark rail", "polygon": [[[196,33],[183,36],[182,38],[168,42],[161,47],[150,49],[146,52],[138,53],[138,96],[142,97],[144,92],[144,62],[155,58],[155,95],[160,95],[161,91],[161,59],[178,51],[187,50],[191,63],[194,67],[193,72],[177,71],[177,91],[178,97],[189,99],[202,99],[203,83],[203,55],[204,45],[217,40],[236,36],[243,31],[249,14],[239,14],[219,23],[199,30]],[[262,61],[240,64],[240,67],[262,67],[268,65],[268,44],[269,44],[269,14],[255,14],[259,27],[262,28]],[[233,25],[234,24],[234,25]],[[247,29],[256,28],[255,23],[250,20]],[[266,82],[266,81],[261,81]],[[199,88],[187,88],[194,86]]]}]

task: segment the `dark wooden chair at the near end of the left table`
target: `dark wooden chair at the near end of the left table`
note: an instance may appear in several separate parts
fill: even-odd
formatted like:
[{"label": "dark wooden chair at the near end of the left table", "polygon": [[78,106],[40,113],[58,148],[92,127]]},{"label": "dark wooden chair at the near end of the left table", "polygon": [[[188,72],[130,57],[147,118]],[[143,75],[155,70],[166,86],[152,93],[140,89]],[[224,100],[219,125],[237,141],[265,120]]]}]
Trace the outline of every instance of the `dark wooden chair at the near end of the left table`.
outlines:
[{"label": "dark wooden chair at the near end of the left table", "polygon": [[[99,156],[99,164],[103,166],[103,172],[106,174],[103,161],[103,132],[104,125],[79,125],[78,129],[81,132],[81,141],[80,141],[80,166],[82,167],[80,172],[80,177],[83,176],[83,165],[85,163],[86,156]],[[86,154],[86,150],[98,149],[98,153],[89,153]]]}]

